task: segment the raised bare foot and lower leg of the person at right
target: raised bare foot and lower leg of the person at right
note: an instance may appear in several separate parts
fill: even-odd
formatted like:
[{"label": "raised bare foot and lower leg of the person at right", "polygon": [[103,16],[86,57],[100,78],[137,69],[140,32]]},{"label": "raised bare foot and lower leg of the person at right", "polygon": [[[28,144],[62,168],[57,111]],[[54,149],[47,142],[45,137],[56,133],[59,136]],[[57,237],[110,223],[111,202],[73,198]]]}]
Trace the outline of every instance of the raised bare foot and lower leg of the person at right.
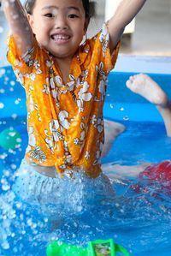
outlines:
[{"label": "raised bare foot and lower leg of the person at right", "polygon": [[127,80],[127,88],[156,105],[165,123],[168,137],[171,137],[171,103],[162,88],[146,74],[136,74]]}]

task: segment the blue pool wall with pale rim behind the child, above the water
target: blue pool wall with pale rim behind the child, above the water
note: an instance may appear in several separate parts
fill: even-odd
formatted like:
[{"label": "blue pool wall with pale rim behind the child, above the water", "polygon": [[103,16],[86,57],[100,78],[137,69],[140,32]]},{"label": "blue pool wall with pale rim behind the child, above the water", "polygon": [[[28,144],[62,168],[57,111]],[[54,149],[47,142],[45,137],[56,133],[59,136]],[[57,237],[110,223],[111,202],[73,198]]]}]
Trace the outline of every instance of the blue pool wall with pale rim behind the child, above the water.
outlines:
[{"label": "blue pool wall with pale rim behind the child, above the water", "polygon": [[[139,72],[150,74],[171,98],[169,73],[171,62],[169,63],[168,59],[171,61],[166,57],[124,57],[123,59],[119,57],[119,64],[109,74],[104,116],[115,121],[162,122],[156,107],[127,89],[126,81],[130,75]],[[146,70],[149,72],[145,72]],[[20,116],[27,116],[25,91],[16,81],[12,68],[2,67],[0,68],[0,119],[14,119]]]}]

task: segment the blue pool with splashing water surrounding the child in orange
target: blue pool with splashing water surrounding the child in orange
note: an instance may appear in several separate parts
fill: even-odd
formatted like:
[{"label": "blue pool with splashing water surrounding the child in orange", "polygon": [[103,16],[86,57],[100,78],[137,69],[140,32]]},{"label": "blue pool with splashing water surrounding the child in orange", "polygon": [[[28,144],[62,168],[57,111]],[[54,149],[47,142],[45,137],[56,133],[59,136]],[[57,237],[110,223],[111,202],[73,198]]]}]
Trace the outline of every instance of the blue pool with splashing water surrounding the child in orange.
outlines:
[{"label": "blue pool with splashing water surrounding the child in orange", "polygon": [[[112,72],[104,116],[123,123],[127,129],[115,141],[103,164],[141,164],[170,158],[171,139],[154,106],[129,92],[125,81],[133,73]],[[171,75],[151,74],[171,97]],[[141,193],[131,189],[134,178],[116,179],[115,200],[103,202],[92,211],[62,216],[55,231],[47,217],[15,198],[11,190],[15,170],[27,145],[25,92],[10,67],[0,68],[0,131],[14,127],[21,134],[16,150],[0,148],[0,255],[45,256],[47,241],[59,240],[85,245],[87,241],[113,238],[133,256],[168,256],[171,252],[170,197],[160,184],[141,183]],[[171,185],[171,184],[170,184]],[[144,188],[144,189],[143,189]],[[154,196],[157,191],[157,197]]]}]

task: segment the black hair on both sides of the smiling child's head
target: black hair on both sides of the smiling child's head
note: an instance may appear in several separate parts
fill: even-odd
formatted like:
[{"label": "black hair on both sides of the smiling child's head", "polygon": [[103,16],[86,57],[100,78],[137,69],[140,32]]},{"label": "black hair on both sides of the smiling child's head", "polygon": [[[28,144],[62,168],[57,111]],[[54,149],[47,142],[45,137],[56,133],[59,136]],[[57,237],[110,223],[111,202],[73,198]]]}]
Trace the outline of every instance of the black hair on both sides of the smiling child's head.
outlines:
[{"label": "black hair on both sides of the smiling child's head", "polygon": [[[36,0],[27,0],[24,4],[24,8],[27,11],[27,14],[32,15],[32,11],[34,8],[34,5],[36,3]],[[82,0],[83,7],[85,9],[85,17],[90,18],[90,2],[89,0]]]}]

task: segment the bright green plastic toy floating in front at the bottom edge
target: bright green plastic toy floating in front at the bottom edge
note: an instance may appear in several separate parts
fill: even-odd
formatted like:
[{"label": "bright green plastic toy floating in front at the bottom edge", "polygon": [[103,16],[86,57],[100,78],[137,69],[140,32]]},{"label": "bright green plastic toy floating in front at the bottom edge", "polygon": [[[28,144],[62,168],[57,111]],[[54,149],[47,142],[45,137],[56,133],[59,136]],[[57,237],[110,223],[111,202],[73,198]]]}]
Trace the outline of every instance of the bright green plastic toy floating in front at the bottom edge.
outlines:
[{"label": "bright green plastic toy floating in front at the bottom edge", "polygon": [[60,241],[53,241],[46,249],[47,256],[129,256],[127,250],[112,239],[90,241],[88,247],[68,245]]}]

